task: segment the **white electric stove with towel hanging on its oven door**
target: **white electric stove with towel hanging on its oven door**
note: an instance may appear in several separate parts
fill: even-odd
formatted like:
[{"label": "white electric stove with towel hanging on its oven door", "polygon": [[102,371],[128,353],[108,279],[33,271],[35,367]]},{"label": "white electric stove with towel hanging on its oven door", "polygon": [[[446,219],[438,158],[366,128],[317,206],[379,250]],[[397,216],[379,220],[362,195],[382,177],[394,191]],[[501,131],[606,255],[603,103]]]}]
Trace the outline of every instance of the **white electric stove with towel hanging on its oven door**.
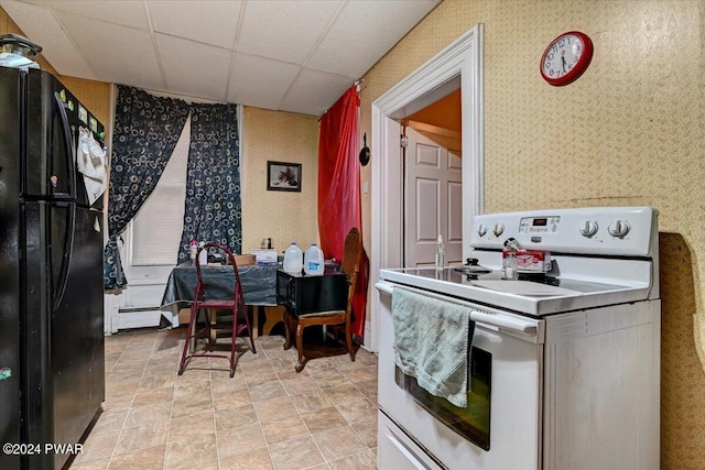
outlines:
[{"label": "white electric stove with towel hanging on its oven door", "polygon": [[[379,468],[658,469],[657,218],[647,207],[484,215],[473,265],[381,270]],[[507,280],[508,239],[550,251],[551,270]],[[468,308],[467,408],[395,368],[395,288]]]}]

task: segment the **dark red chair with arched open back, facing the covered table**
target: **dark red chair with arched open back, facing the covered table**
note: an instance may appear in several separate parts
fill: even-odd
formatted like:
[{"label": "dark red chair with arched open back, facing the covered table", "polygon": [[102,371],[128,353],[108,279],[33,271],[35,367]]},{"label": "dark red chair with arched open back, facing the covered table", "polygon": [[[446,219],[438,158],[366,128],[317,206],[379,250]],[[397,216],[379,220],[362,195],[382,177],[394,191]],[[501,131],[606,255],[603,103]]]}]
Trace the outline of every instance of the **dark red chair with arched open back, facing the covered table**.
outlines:
[{"label": "dark red chair with arched open back, facing the covered table", "polygon": [[[198,250],[198,253],[200,253],[200,250],[208,250],[209,248],[223,251],[224,254],[228,256],[228,260],[230,260],[230,264],[232,265],[232,273],[235,276],[232,298],[208,298],[208,283],[204,282],[200,263],[198,262],[198,254],[196,254],[196,275],[198,276],[198,282],[196,284],[196,292],[194,294],[194,303],[191,306],[191,319],[188,320],[188,330],[186,334],[186,341],[184,342],[184,351],[181,357],[181,364],[178,367],[178,375],[184,373],[186,362],[191,358],[224,358],[230,360],[230,376],[232,378],[235,375],[236,338],[246,332],[250,338],[250,349],[253,353],[257,353],[257,350],[254,349],[254,340],[252,339],[252,328],[250,327],[250,319],[248,318],[247,309],[245,307],[242,285],[240,284],[240,275],[238,273],[238,266],[235,261],[235,255],[227,247],[217,243],[206,243]],[[208,318],[208,310],[210,310],[210,318]],[[223,326],[218,323],[218,315],[220,314],[218,310],[229,310],[228,315],[232,315],[231,327],[223,328]],[[205,326],[198,329],[198,314],[200,311],[206,315],[206,318]],[[230,332],[232,342],[230,345],[229,357],[214,353],[217,332],[219,330],[226,330]],[[197,338],[203,337],[207,337],[206,347],[205,350],[198,352],[196,340]],[[192,339],[194,340],[194,345],[193,350],[189,352],[189,349],[192,348]]]}]

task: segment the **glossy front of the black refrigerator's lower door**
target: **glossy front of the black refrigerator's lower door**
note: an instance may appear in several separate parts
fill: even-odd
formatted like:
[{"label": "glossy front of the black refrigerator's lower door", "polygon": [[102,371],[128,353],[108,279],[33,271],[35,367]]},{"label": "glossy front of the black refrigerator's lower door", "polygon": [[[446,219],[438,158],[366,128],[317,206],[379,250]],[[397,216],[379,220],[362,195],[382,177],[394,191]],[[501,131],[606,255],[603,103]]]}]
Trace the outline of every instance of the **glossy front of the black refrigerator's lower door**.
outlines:
[{"label": "glossy front of the black refrigerator's lower door", "polygon": [[[54,309],[51,318],[54,441],[78,442],[105,398],[102,214],[72,206],[52,206],[53,239],[61,238],[61,223],[73,225],[73,250],[66,270],[54,269]],[[58,245],[61,247],[61,240]],[[52,247],[52,252],[55,248]],[[57,255],[53,255],[58,260]],[[54,262],[52,262],[54,264]],[[65,277],[64,277],[65,276]],[[68,456],[56,456],[61,468]]]}]

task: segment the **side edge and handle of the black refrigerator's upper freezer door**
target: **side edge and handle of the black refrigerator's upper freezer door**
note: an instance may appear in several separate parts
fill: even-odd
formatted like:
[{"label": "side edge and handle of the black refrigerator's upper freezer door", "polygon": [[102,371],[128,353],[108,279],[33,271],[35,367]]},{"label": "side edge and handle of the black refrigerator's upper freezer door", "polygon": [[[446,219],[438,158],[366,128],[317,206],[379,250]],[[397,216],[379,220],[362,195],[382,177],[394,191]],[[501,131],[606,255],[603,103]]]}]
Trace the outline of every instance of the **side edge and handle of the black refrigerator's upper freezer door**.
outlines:
[{"label": "side edge and handle of the black refrigerator's upper freezer door", "polygon": [[24,194],[76,199],[76,159],[62,99],[62,84],[44,70],[31,69],[26,80],[26,160]]}]

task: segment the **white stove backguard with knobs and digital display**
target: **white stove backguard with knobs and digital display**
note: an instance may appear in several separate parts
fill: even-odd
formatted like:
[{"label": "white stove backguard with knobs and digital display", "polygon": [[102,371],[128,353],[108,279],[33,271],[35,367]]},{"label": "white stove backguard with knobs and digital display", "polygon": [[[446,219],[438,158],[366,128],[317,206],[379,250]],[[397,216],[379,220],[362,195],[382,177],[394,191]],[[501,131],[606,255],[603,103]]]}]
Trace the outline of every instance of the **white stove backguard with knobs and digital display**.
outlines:
[{"label": "white stove backguard with knobs and digital display", "polygon": [[470,248],[501,250],[514,238],[521,248],[556,253],[652,255],[658,211],[650,207],[592,207],[475,217]]}]

